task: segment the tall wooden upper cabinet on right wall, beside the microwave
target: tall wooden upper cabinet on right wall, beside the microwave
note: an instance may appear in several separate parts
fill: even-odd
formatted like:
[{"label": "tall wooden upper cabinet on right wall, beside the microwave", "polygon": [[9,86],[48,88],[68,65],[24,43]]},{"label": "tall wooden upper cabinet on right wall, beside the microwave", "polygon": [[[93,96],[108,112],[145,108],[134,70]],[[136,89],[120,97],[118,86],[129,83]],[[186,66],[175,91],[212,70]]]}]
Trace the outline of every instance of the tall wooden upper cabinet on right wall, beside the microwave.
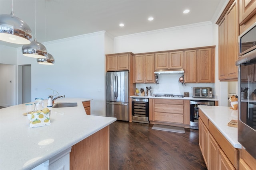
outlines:
[{"label": "tall wooden upper cabinet on right wall, beside the microwave", "polygon": [[219,25],[219,80],[237,81],[239,25],[236,0],[230,0],[216,24]]}]

